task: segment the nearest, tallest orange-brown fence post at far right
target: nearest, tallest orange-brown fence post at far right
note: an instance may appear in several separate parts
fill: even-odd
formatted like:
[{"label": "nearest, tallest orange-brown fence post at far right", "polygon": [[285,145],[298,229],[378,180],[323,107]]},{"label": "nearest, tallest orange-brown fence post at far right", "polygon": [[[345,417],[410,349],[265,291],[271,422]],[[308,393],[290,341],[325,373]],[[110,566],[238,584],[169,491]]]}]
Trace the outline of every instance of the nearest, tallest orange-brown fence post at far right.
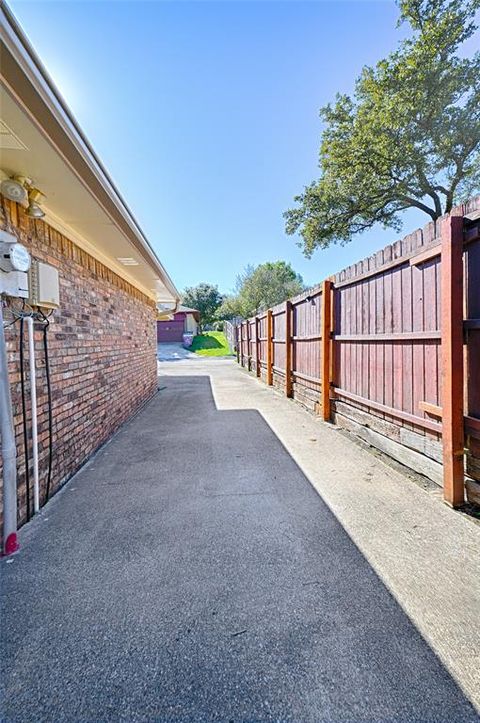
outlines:
[{"label": "nearest, tallest orange-brown fence post at far right", "polygon": [[464,503],[463,431],[463,216],[442,224],[442,443],[443,497]]}]

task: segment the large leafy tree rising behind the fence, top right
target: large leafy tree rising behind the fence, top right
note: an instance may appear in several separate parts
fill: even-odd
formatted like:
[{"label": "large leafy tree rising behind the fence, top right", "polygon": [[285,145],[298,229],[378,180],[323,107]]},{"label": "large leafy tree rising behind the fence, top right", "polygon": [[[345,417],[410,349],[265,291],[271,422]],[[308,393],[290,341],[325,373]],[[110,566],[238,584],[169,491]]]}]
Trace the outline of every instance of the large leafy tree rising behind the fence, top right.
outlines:
[{"label": "large leafy tree rising behind the fence, top right", "polygon": [[399,230],[407,208],[436,220],[480,188],[480,53],[460,50],[480,0],[398,5],[410,37],[320,111],[320,178],[284,214],[306,256],[376,223]]}]

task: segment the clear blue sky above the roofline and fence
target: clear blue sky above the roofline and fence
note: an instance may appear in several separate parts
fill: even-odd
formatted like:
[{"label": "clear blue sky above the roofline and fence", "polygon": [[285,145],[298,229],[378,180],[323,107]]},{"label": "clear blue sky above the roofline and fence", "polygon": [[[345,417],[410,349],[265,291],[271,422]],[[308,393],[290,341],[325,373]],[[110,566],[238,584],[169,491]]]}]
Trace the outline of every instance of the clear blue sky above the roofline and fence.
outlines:
[{"label": "clear blue sky above the roofline and fence", "polygon": [[277,259],[312,285],[395,240],[308,260],[282,218],[317,175],[318,109],[405,33],[393,1],[10,5],[179,289]]}]

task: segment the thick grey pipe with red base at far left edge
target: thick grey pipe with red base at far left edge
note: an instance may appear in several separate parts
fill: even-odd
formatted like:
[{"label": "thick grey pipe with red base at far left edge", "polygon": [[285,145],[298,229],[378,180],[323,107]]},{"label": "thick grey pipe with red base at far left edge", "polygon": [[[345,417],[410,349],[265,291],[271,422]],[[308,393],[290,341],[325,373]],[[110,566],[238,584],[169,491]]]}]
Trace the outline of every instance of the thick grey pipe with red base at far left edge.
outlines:
[{"label": "thick grey pipe with red base at far left edge", "polygon": [[0,300],[0,432],[3,457],[3,553],[11,555],[19,548],[17,539],[17,447],[8,381],[2,300]]}]

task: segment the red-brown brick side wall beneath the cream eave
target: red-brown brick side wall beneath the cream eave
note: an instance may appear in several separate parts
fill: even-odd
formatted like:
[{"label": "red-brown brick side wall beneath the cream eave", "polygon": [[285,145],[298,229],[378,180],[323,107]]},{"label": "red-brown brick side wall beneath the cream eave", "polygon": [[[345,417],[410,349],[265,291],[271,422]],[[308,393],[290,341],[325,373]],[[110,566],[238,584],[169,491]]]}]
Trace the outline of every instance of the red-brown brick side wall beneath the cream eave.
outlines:
[{"label": "red-brown brick side wall beneath the cream eave", "polygon": [[[69,239],[0,196],[0,228],[34,258],[58,268],[60,308],[48,330],[53,396],[55,492],[157,388],[155,305]],[[17,302],[18,303],[18,302]],[[5,310],[5,315],[8,312]],[[25,325],[25,367],[28,365]],[[18,518],[26,519],[19,372],[20,324],[6,329],[17,439]],[[48,405],[43,331],[36,326],[40,499],[48,469]],[[28,377],[28,372],[25,374]],[[29,384],[27,379],[27,409]],[[28,428],[30,430],[30,413]],[[30,449],[31,459],[31,449]],[[30,471],[32,484],[32,471]],[[33,509],[33,489],[31,492]],[[3,509],[3,506],[2,506]]]}]

